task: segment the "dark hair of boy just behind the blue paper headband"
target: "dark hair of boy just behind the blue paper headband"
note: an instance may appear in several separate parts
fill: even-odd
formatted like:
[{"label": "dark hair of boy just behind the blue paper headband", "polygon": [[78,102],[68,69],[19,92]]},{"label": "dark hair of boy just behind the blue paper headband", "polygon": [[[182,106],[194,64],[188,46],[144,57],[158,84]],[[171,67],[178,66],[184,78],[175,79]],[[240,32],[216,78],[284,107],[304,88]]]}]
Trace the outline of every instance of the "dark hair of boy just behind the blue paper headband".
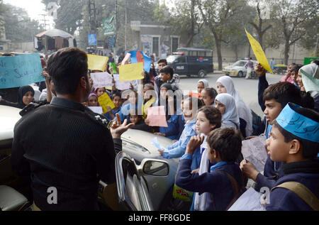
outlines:
[{"label": "dark hair of boy just behind the blue paper headband", "polygon": [[264,91],[264,101],[270,101],[274,99],[281,104],[281,108],[284,109],[289,102],[305,106],[303,97],[301,97],[301,91],[295,85],[289,82],[279,82],[270,85]]}]

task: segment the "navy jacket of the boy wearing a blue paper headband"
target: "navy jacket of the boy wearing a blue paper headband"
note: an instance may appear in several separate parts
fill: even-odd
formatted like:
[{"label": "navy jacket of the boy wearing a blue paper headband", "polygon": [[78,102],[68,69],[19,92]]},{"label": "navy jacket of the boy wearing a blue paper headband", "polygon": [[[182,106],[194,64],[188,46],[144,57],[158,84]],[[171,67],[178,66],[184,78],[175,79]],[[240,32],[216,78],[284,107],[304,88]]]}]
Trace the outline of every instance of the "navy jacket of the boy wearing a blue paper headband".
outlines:
[{"label": "navy jacket of the boy wearing a blue paper headband", "polygon": [[[288,163],[282,166],[284,176],[277,180],[275,186],[284,182],[300,182],[319,198],[319,163],[306,161]],[[270,202],[267,211],[309,211],[313,210],[295,193],[285,188],[276,188],[270,193]]]}]

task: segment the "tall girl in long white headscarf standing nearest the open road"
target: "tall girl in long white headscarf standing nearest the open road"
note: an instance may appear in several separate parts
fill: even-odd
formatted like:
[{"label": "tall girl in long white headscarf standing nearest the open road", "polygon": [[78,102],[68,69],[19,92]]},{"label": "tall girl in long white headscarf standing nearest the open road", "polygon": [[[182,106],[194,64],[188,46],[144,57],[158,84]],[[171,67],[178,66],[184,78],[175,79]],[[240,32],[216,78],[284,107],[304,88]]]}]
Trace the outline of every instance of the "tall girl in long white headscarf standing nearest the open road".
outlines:
[{"label": "tall girl in long white headscarf standing nearest the open road", "polygon": [[217,82],[218,94],[228,93],[235,99],[237,113],[240,118],[240,131],[244,138],[252,135],[252,111],[240,97],[239,92],[235,89],[233,79],[228,76],[220,77]]}]

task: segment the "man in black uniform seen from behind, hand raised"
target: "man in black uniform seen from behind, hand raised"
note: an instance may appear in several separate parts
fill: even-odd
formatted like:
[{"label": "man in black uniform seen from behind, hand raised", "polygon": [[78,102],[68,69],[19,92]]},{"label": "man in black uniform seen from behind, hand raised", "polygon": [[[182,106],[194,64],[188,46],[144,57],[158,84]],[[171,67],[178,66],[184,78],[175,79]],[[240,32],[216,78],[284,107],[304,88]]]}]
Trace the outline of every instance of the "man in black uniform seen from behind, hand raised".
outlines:
[{"label": "man in black uniform seen from behind, hand raised", "polygon": [[[50,105],[21,111],[24,116],[14,129],[13,172],[31,177],[40,210],[97,210],[99,180],[116,182],[116,151],[109,121],[81,104],[91,90],[86,53],[61,49],[50,57],[47,70],[57,97]],[[117,131],[112,135],[121,146]],[[53,203],[47,200],[52,187],[57,190]]]}]

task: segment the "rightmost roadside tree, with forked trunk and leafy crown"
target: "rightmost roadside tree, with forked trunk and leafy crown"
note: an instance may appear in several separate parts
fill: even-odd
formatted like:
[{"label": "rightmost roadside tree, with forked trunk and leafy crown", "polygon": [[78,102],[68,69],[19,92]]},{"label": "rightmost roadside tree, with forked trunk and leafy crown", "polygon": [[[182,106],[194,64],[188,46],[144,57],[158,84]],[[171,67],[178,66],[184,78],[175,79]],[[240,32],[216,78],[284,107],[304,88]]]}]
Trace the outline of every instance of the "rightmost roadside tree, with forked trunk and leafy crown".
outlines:
[{"label": "rightmost roadside tree, with forked trunk and leafy crown", "polygon": [[291,45],[307,34],[307,22],[317,16],[318,1],[315,3],[312,0],[272,0],[272,5],[276,24],[279,25],[284,39],[284,63],[288,64]]}]

